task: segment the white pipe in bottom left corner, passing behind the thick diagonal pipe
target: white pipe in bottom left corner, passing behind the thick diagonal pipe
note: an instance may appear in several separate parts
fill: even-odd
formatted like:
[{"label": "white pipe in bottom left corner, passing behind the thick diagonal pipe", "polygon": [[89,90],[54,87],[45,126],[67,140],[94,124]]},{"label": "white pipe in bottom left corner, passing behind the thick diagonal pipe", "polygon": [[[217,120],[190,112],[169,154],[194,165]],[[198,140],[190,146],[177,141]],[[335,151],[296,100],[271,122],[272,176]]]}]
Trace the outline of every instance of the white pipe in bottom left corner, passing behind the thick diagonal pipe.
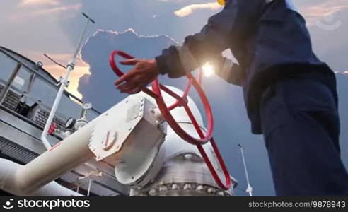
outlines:
[{"label": "white pipe in bottom left corner, passing behind the thick diagonal pipe", "polygon": [[21,168],[23,165],[0,158],[0,188],[2,190],[16,196],[83,196],[54,181],[33,192],[25,193],[18,188],[15,178],[16,172]]}]

